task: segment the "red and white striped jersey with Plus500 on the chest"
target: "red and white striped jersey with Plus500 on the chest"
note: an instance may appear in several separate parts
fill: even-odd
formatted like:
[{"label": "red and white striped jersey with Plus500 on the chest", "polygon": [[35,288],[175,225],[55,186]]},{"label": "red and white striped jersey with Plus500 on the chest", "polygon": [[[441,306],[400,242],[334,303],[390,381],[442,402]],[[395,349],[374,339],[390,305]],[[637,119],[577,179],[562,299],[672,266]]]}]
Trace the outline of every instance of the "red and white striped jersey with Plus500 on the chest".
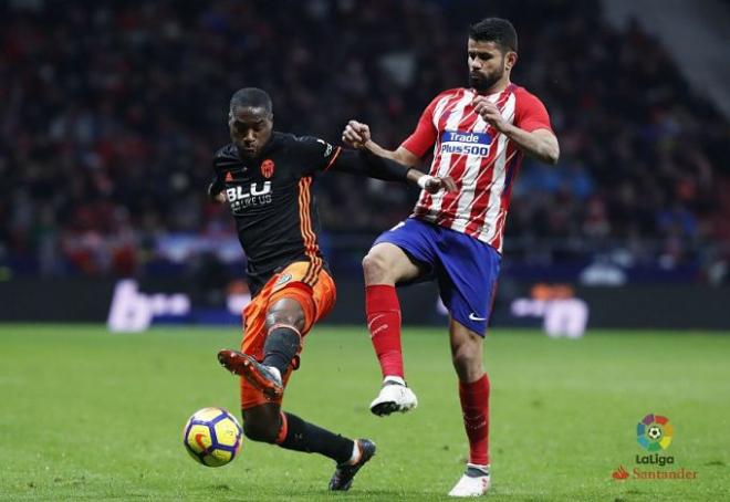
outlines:
[{"label": "red and white striped jersey with Plus500 on the chest", "polygon": [[[473,111],[473,90],[445,91],[426,107],[416,130],[403,143],[418,157],[434,146],[431,176],[450,176],[458,190],[421,190],[413,217],[463,232],[502,251],[504,219],[522,153]],[[504,119],[521,129],[550,129],[542,102],[510,84],[487,96]]]}]

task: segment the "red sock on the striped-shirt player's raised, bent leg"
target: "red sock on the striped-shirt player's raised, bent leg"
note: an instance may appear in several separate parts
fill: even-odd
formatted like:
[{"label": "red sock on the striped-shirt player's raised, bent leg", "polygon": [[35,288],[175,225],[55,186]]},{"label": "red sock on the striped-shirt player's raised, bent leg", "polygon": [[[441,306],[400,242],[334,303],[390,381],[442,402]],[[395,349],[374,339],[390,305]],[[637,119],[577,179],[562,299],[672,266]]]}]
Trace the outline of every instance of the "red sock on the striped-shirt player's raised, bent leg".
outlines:
[{"label": "red sock on the striped-shirt player's raised, bent leg", "polygon": [[403,378],[400,351],[400,304],[395,286],[375,284],[365,287],[365,314],[383,377]]}]

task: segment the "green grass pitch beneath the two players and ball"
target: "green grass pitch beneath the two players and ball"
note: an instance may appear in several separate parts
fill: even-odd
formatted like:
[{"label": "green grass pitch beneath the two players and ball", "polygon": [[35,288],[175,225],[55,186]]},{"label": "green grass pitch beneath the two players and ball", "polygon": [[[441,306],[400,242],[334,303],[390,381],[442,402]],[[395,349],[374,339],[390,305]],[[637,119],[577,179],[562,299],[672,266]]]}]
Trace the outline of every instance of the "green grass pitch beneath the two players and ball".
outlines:
[{"label": "green grass pitch beneath the two players and ball", "polygon": [[[467,453],[445,332],[404,333],[406,373],[419,397],[407,415],[374,417],[379,374],[363,328],[307,337],[285,409],[378,445],[348,493],[328,493],[333,463],[246,440],[230,466],[194,462],[186,419],[238,407],[236,379],[216,352],[236,328],[0,326],[0,500],[446,500]],[[729,500],[730,336],[590,332],[578,341],[496,330],[484,359],[492,381],[490,500]],[[616,481],[646,454],[636,423],[665,415],[664,454],[695,480]],[[236,414],[239,415],[238,412]],[[667,469],[666,467],[664,468]]]}]

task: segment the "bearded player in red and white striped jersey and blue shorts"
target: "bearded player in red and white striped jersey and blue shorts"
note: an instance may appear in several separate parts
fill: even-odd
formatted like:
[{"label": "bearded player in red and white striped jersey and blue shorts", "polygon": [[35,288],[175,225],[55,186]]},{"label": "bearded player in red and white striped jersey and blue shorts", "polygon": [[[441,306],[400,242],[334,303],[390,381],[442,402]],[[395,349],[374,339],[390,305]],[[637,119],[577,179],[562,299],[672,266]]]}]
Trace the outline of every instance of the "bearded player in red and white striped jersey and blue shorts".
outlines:
[{"label": "bearded player in red and white striped jersey and blue shorts", "polygon": [[517,32],[488,18],[469,29],[469,87],[445,91],[426,107],[416,130],[396,150],[351,121],[343,140],[415,166],[429,151],[430,175],[451,177],[456,191],[421,191],[414,213],[383,233],[363,261],[366,313],[384,383],[371,410],[407,411],[417,404],[406,386],[396,284],[437,278],[450,314],[453,366],[459,377],[470,456],[449,493],[479,495],[489,488],[489,379],[483,336],[493,301],[504,220],[523,155],[556,164],[557,139],[542,102],[510,81],[518,60]]}]

